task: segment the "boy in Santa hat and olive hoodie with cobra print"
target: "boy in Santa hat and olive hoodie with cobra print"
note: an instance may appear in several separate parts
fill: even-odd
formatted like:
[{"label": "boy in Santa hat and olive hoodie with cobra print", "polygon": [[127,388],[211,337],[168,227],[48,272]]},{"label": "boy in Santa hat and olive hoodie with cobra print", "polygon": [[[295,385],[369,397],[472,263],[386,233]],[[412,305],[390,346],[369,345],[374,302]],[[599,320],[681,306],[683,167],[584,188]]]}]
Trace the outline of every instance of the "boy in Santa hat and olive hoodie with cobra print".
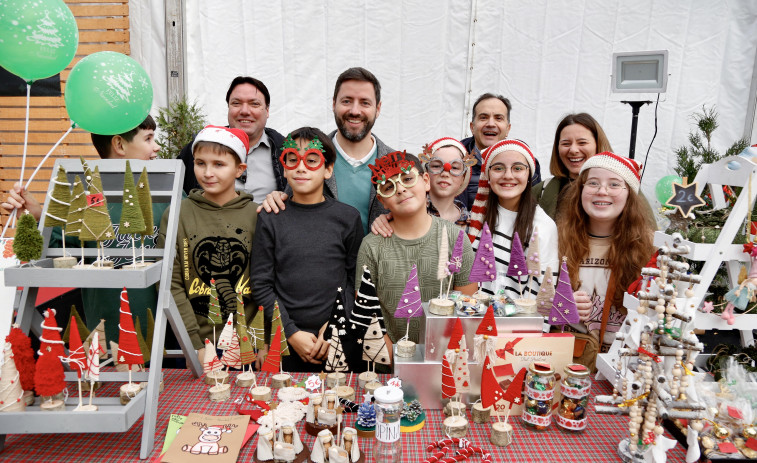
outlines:
[{"label": "boy in Santa hat and olive hoodie with cobra print", "polygon": [[[227,127],[209,125],[192,143],[200,188],[181,202],[171,293],[200,361],[205,338],[213,338],[213,325],[207,318],[211,280],[215,280],[224,321],[236,312],[237,293],[242,294],[248,323],[255,314],[250,254],[258,205],[249,193],[234,189],[234,181],[247,168],[248,151],[247,134]],[[162,237],[167,220],[164,214]]]}]

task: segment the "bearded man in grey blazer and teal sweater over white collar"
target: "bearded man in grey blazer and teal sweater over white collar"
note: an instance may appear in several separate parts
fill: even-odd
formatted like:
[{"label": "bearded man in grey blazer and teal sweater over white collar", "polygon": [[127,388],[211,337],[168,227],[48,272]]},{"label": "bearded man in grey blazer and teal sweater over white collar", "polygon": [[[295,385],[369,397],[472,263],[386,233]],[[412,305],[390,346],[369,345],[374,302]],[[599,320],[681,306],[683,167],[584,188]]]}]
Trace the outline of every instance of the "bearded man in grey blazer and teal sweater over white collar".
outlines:
[{"label": "bearded man in grey blazer and teal sweater over white collar", "polygon": [[[369,165],[394,151],[371,133],[381,112],[381,84],[367,69],[347,69],[336,80],[332,109],[337,130],[329,137],[338,154],[324,193],[360,211],[363,233],[367,234],[373,220],[388,212],[376,199]],[[286,193],[272,192],[261,207],[277,213],[284,209],[287,193],[289,188]]]}]

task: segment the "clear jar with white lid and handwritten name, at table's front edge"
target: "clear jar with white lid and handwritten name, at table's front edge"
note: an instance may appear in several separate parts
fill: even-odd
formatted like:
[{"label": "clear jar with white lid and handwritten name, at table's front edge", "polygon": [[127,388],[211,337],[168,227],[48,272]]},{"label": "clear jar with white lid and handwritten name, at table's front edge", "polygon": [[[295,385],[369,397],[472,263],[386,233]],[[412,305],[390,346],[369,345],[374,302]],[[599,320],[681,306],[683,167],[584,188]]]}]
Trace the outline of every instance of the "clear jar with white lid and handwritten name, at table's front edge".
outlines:
[{"label": "clear jar with white lid and handwritten name, at table's front edge", "polygon": [[376,463],[399,463],[402,460],[400,419],[403,405],[402,389],[382,386],[373,393],[376,401],[376,442],[373,458]]}]

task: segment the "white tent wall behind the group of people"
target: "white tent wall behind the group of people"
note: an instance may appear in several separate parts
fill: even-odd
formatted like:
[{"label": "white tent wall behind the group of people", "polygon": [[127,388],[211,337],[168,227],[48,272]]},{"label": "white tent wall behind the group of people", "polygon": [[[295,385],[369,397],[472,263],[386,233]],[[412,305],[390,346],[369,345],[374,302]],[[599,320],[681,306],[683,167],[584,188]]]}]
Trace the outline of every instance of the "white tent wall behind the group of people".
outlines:
[{"label": "white tent wall behind the group of people", "polygon": [[[132,55],[166,104],[163,2],[131,0]],[[668,50],[667,92],[658,108],[643,189],[672,173],[691,115],[715,106],[721,152],[743,137],[755,78],[757,2],[573,0],[224,1],[186,0],[187,93],[208,122],[226,122],[235,76],[252,75],[271,92],[268,126],[335,128],[334,82],[350,66],[381,81],[374,132],[417,153],[441,136],[469,135],[470,104],[487,91],[511,99],[511,136],[526,140],[548,176],[554,129],[586,111],[616,152],[628,153],[631,110],[620,100],[657,95],[610,92],[612,53]],[[474,21],[475,19],[475,21]],[[470,67],[469,67],[470,64]],[[469,86],[469,88],[467,87]],[[467,92],[470,91],[469,94]],[[639,116],[636,158],[654,133],[654,104]],[[755,141],[753,141],[754,143]]]}]

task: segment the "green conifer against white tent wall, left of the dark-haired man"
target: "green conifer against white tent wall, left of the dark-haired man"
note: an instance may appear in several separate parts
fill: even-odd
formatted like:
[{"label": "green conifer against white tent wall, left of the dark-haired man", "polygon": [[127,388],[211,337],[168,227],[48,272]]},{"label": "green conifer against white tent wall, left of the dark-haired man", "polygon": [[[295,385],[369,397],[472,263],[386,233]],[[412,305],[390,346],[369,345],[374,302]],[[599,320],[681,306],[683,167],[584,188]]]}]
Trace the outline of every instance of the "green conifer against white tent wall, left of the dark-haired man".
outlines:
[{"label": "green conifer against white tent wall, left of the dark-haired man", "polygon": [[167,107],[158,108],[156,122],[160,129],[156,138],[161,148],[160,157],[176,159],[181,149],[205,127],[205,114],[197,103],[189,103],[183,97]]}]

